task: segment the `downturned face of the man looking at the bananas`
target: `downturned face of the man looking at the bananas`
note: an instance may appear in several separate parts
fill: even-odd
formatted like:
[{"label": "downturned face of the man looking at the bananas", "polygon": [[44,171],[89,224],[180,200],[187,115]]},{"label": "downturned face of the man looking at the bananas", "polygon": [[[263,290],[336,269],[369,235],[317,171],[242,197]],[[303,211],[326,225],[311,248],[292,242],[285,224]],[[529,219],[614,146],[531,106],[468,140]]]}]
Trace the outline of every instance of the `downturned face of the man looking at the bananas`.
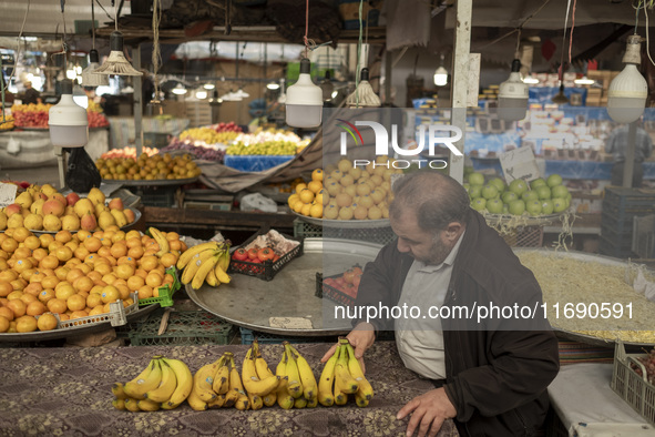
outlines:
[{"label": "downturned face of the man looking at the bananas", "polygon": [[451,244],[446,231],[434,233],[419,226],[416,214],[405,213],[399,218],[390,217],[391,228],[398,235],[398,251],[428,265],[438,265],[446,260],[457,240]]}]

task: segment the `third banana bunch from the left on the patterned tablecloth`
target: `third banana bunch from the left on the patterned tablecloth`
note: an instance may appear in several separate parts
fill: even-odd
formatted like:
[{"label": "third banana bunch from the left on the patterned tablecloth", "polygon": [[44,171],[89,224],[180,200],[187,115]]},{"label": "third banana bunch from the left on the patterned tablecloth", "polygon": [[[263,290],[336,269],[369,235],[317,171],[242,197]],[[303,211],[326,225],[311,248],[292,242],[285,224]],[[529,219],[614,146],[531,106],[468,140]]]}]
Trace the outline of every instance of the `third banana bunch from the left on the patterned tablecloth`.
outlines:
[{"label": "third banana bunch from the left on the patterned tablecloth", "polygon": [[250,407],[259,409],[264,405],[272,407],[277,400],[276,389],[280,377],[274,375],[259,353],[259,343],[253,342],[242,366],[244,387],[250,399]]}]

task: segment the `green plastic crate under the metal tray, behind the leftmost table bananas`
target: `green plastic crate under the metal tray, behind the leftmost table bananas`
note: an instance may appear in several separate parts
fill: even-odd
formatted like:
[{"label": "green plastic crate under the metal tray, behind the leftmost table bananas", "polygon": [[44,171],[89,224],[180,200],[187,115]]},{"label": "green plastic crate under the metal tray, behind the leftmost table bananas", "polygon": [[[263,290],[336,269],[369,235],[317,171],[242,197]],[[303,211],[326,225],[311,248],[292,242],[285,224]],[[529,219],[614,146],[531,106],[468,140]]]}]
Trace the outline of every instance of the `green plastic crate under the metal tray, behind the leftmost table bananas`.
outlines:
[{"label": "green plastic crate under the metal tray, behind the leftmost table bananas", "polygon": [[236,336],[234,325],[204,311],[172,312],[166,331],[157,335],[162,314],[151,314],[130,333],[132,346],[228,345]]}]

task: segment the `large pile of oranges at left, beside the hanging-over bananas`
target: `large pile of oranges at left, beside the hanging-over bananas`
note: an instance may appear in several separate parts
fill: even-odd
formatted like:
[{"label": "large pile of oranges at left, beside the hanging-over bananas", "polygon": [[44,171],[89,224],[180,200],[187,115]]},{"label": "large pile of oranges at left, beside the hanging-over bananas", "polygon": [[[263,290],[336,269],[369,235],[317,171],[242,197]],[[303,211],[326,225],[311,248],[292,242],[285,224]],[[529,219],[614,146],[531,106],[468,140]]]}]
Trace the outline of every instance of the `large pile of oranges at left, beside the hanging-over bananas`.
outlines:
[{"label": "large pile of oranges at left, beside the hanging-over bananas", "polygon": [[57,327],[57,318],[100,315],[121,299],[158,296],[173,284],[165,270],[186,250],[170,232],[170,252],[157,256],[157,242],[139,231],[60,231],[35,236],[25,227],[0,234],[0,333],[29,333]]}]

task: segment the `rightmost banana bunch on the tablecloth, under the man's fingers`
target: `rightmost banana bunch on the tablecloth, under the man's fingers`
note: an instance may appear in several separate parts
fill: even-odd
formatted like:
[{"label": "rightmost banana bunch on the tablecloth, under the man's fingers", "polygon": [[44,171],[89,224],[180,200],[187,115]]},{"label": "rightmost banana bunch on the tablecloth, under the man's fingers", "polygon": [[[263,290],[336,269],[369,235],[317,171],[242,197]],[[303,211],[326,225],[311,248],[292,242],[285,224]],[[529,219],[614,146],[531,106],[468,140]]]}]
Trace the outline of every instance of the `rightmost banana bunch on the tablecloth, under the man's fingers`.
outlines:
[{"label": "rightmost banana bunch on the tablecloth, under the man's fingers", "polygon": [[320,374],[318,402],[326,407],[346,405],[350,394],[358,407],[366,407],[373,397],[373,388],[364,376],[355,349],[348,339],[341,338]]}]

